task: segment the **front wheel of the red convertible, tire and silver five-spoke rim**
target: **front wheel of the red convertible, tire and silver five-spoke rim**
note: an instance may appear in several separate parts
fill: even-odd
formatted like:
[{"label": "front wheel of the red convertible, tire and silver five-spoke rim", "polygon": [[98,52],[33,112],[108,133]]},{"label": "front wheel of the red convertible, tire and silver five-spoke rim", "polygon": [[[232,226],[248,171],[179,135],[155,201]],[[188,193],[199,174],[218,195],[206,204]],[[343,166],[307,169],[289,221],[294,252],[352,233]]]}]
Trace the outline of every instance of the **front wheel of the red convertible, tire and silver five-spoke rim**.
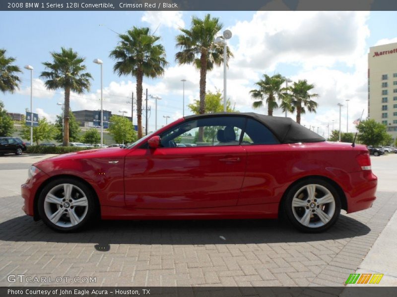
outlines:
[{"label": "front wheel of the red convertible, tire and silver five-spoke rim", "polygon": [[[64,193],[68,193],[65,197]],[[38,200],[43,222],[58,232],[81,230],[95,216],[94,194],[84,183],[72,178],[59,178],[46,185]]]}]

